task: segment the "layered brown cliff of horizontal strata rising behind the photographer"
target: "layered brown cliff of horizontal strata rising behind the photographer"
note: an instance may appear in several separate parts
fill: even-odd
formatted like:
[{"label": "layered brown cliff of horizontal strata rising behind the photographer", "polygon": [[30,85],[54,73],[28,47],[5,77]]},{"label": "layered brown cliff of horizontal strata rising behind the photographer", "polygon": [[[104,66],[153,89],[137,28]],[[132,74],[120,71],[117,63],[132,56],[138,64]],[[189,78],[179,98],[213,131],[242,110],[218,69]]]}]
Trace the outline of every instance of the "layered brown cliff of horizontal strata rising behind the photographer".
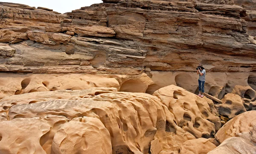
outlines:
[{"label": "layered brown cliff of horizontal strata rising behind the photographer", "polygon": [[[0,42],[12,43],[16,52],[1,61],[0,71],[38,73],[38,65],[42,70],[51,65],[55,73],[76,69],[87,73],[87,66],[92,66],[102,71],[127,68],[138,74],[146,68],[192,71],[198,63],[207,65],[207,71],[255,71],[256,44],[246,33],[248,23],[241,19],[246,10],[239,6],[122,0],[63,15],[1,5]],[[43,59],[34,54],[17,63],[15,58],[28,57],[19,49],[47,52],[47,59],[57,58],[57,53],[79,58],[59,64],[34,63]]]}]

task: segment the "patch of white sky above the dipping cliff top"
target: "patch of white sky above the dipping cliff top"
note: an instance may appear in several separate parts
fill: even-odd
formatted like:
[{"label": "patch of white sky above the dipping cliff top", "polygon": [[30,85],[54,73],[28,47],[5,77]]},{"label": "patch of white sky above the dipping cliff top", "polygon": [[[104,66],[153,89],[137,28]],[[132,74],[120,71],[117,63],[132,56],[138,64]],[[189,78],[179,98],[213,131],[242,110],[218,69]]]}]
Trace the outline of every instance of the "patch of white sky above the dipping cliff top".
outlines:
[{"label": "patch of white sky above the dipping cliff top", "polygon": [[0,2],[20,3],[28,6],[45,7],[60,13],[71,12],[84,6],[102,3],[102,0],[0,0]]}]

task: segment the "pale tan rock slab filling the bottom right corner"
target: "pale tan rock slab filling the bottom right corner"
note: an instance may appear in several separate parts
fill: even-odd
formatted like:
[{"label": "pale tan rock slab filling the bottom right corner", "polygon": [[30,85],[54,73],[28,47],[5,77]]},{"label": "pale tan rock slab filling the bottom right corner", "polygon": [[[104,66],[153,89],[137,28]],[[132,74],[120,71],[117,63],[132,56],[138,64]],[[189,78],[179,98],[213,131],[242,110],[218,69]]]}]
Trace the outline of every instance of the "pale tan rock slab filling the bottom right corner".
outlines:
[{"label": "pale tan rock slab filling the bottom right corner", "polygon": [[250,132],[243,132],[230,137],[207,154],[255,154],[256,126]]}]

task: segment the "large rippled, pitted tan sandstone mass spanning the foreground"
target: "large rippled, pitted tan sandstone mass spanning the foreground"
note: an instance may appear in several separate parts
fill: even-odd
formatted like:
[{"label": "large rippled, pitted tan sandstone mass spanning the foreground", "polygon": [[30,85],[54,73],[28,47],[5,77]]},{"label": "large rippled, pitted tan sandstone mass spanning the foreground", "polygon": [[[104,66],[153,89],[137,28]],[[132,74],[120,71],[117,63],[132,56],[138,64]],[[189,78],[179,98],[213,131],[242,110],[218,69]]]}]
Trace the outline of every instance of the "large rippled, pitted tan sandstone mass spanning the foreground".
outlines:
[{"label": "large rippled, pitted tan sandstone mass spanning the foreground", "polygon": [[[165,96],[165,91],[171,89],[174,95]],[[41,125],[46,127],[42,126],[44,133],[34,134],[41,138],[40,143],[34,141],[33,144],[42,145],[38,147],[39,150],[44,150],[47,154],[50,151],[56,154],[61,151],[91,152],[96,147],[103,147],[102,151],[98,150],[100,153],[147,154],[152,144],[158,145],[163,152],[181,151],[181,154],[185,154],[189,146],[194,144],[193,141],[185,143],[186,141],[198,137],[209,138],[220,128],[220,119],[215,112],[211,112],[207,101],[183,88],[169,86],[156,91],[155,95],[157,97],[143,93],[117,92],[115,88],[20,94],[18,97],[15,95],[1,100],[0,112],[5,113],[2,114],[1,125],[16,125],[16,120],[21,123],[26,119],[32,120],[31,123],[33,120],[38,123],[43,121]],[[185,100],[188,99],[193,101],[186,109],[189,104]],[[166,101],[172,104],[167,105]],[[186,107],[178,108],[181,102],[186,103]],[[183,112],[177,114],[177,111]],[[61,120],[58,121],[59,119]],[[32,126],[26,127],[29,130]],[[7,126],[0,128],[1,134],[8,129]],[[74,130],[79,135],[75,135]],[[86,136],[87,134],[90,136]],[[9,135],[13,135],[9,138],[17,137],[15,134]],[[8,140],[6,137],[2,137],[3,141]],[[101,142],[94,143],[95,138],[99,137],[102,137]],[[201,141],[205,146],[210,145],[208,151],[216,146],[203,138],[198,143]],[[4,147],[8,147],[8,144],[6,142]],[[25,151],[20,149],[20,152]]]}]

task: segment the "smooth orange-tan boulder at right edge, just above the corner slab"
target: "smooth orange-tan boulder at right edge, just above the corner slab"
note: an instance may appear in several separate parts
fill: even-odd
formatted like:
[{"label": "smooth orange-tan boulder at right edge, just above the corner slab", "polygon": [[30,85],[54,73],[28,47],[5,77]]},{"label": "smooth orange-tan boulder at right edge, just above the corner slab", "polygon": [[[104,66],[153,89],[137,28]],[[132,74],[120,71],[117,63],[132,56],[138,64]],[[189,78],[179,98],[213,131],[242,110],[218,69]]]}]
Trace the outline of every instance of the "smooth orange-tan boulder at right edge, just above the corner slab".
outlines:
[{"label": "smooth orange-tan boulder at right edge, just above the corner slab", "polygon": [[247,111],[228,121],[216,133],[215,138],[222,143],[224,140],[242,132],[249,132],[256,125],[256,111]]}]

